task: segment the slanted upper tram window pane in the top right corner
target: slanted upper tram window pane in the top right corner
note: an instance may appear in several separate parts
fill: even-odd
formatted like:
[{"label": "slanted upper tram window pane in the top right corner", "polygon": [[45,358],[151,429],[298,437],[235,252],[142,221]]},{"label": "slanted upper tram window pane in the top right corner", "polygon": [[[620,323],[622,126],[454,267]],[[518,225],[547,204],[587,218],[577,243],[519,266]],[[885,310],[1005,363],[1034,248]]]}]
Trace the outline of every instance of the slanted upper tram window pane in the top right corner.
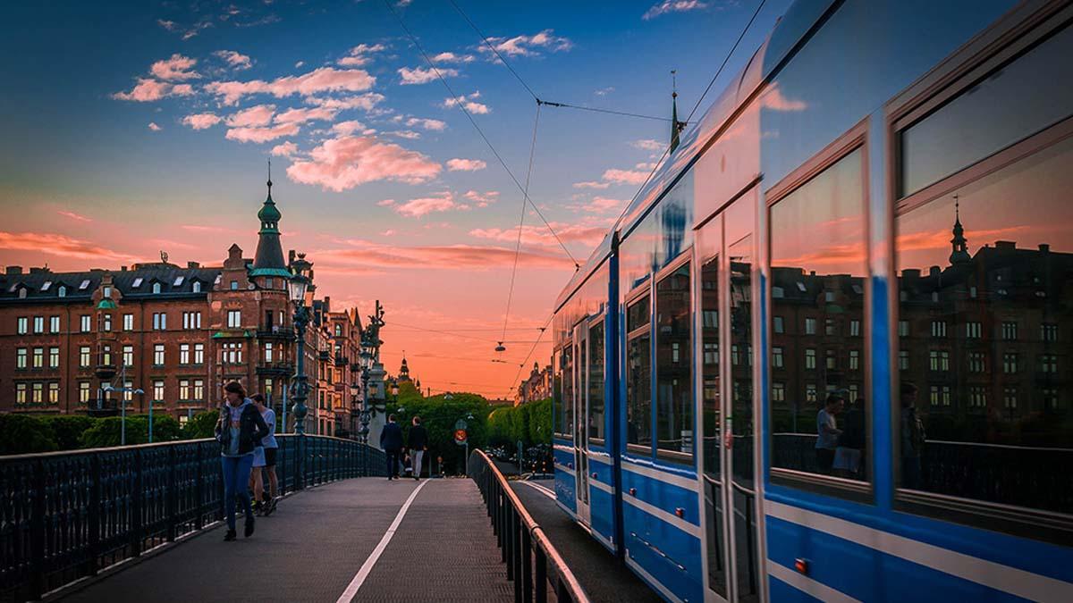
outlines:
[{"label": "slanted upper tram window pane in the top right corner", "polygon": [[1071,56],[1073,27],[1067,27],[903,130],[901,194],[916,192],[1069,117]]}]

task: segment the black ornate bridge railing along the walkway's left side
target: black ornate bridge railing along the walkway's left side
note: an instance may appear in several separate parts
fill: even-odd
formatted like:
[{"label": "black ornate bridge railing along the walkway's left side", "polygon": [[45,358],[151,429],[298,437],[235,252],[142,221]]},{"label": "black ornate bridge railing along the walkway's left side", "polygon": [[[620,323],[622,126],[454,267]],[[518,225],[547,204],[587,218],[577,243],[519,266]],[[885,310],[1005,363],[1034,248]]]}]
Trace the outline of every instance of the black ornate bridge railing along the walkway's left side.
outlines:
[{"label": "black ornate bridge railing along the walkway's left side", "polygon": [[[323,436],[276,437],[280,495],[383,475],[383,452]],[[0,601],[42,594],[223,517],[220,444],[0,457]]]}]

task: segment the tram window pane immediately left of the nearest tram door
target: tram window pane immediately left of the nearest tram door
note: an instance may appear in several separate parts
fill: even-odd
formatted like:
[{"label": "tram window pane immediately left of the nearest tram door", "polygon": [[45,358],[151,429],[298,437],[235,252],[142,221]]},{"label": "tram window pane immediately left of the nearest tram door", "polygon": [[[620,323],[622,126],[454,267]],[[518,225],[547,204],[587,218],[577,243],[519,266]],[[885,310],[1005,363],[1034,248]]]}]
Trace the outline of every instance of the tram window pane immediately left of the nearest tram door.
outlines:
[{"label": "tram window pane immediately left of the nearest tram door", "polygon": [[656,283],[656,431],[660,452],[693,454],[689,263]]}]

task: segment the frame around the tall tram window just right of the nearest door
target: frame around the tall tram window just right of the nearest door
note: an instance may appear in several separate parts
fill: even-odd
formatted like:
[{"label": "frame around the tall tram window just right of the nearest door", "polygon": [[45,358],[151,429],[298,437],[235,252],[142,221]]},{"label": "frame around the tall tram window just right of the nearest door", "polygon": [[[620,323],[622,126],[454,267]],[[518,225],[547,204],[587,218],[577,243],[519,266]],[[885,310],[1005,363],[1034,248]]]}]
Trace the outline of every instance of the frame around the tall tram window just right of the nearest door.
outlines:
[{"label": "frame around the tall tram window just right of the nearest door", "polygon": [[[770,275],[771,270],[771,210],[774,207],[782,200],[792,195],[794,192],[800,190],[803,187],[808,186],[815,177],[822,175],[828,168],[835,166],[842,160],[848,159],[854,152],[859,152],[859,165],[858,170],[861,173],[861,195],[862,195],[862,207],[861,207],[861,220],[864,224],[864,237],[862,240],[862,249],[865,253],[865,273],[863,280],[864,286],[864,345],[862,347],[864,351],[864,357],[862,358],[862,366],[864,367],[864,392],[871,392],[872,384],[872,363],[874,358],[873,354],[868,353],[871,350],[871,338],[872,338],[872,286],[871,286],[871,256],[872,250],[870,241],[871,236],[871,206],[869,203],[870,194],[868,188],[869,180],[869,157],[868,157],[868,119],[863,119],[848,131],[842,133],[840,136],[835,138],[826,147],[820,150],[818,153],[809,158],[805,163],[799,165],[796,170],[787,175],[782,180],[773,185],[764,194],[765,207],[764,211],[766,214],[766,226],[764,229],[764,246],[766,247],[765,253],[765,266],[767,274]],[[774,324],[774,313],[775,306],[773,305],[773,292],[770,282],[768,286],[762,292],[765,298],[765,304],[767,305],[768,323],[765,329],[766,340],[765,345],[767,350],[770,350],[774,345],[773,335],[775,332]],[[804,323],[802,323],[804,324]],[[802,327],[804,329],[804,326]],[[769,371],[768,371],[769,372]],[[785,385],[788,386],[788,385]],[[789,386],[788,386],[789,387]],[[766,407],[764,409],[768,421],[770,421],[771,405],[771,378],[768,377],[767,382],[764,383],[764,396],[767,400]],[[874,450],[873,450],[873,438],[872,438],[872,413],[874,409],[874,403],[872,396],[865,396],[865,460],[864,462],[869,464],[866,470],[866,476],[864,480],[853,480],[841,477],[837,475],[829,475],[823,473],[811,473],[807,471],[799,471],[795,469],[780,468],[771,466],[771,458],[774,457],[774,439],[771,438],[771,429],[767,429],[764,432],[764,446],[767,453],[767,461],[765,462],[765,469],[767,471],[767,479],[771,484],[779,486],[787,486],[790,488],[805,490],[810,492],[815,492],[825,496],[832,496],[836,498],[847,499],[854,502],[862,502],[866,504],[874,504],[874,484],[877,481],[877,467],[874,465]]]}]

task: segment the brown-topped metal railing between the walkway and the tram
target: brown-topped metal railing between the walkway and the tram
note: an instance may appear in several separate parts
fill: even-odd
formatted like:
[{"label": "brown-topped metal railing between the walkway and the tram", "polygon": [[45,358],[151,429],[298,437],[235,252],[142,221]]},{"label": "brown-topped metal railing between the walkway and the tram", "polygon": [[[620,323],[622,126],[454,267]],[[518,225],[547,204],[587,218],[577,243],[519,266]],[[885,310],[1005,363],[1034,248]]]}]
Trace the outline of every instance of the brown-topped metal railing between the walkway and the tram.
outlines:
[{"label": "brown-topped metal railing between the walkway and the tram", "polygon": [[470,454],[468,470],[488,506],[506,579],[514,583],[514,601],[545,603],[550,584],[558,601],[588,603],[577,577],[484,451]]}]

